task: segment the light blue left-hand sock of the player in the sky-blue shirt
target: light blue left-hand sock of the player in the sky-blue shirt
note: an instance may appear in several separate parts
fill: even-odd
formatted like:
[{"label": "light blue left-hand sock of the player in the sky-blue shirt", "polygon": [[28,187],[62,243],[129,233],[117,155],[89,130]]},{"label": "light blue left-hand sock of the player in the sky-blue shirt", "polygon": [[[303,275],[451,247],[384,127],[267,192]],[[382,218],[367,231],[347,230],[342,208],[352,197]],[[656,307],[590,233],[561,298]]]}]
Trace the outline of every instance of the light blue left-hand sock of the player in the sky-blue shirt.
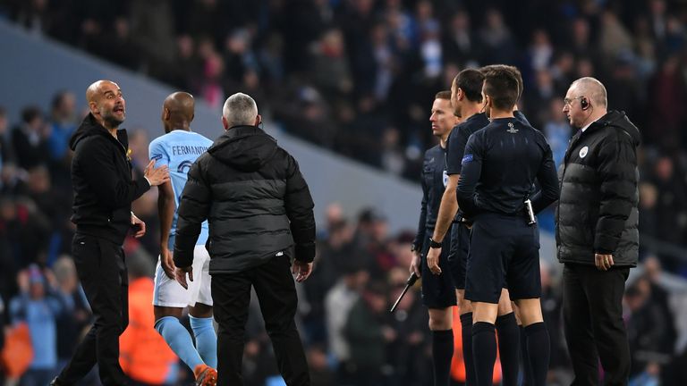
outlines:
[{"label": "light blue left-hand sock of the player in the sky-blue shirt", "polygon": [[[203,320],[203,319],[200,319]],[[191,318],[191,325],[193,325],[193,318]],[[210,327],[212,327],[212,322],[210,322]],[[191,334],[186,327],[179,323],[179,319],[174,316],[163,316],[157,319],[155,323],[155,329],[162,335],[165,342],[172,348],[174,354],[179,357],[183,363],[188,365],[193,371],[197,365],[202,365],[203,360],[200,358],[198,350],[193,346],[193,340],[191,340]],[[195,331],[195,327],[193,328]],[[216,341],[216,340],[215,340]],[[216,343],[215,343],[216,347]],[[208,363],[208,365],[210,365]],[[215,356],[215,365],[210,365],[211,367],[216,367],[217,359]]]}]

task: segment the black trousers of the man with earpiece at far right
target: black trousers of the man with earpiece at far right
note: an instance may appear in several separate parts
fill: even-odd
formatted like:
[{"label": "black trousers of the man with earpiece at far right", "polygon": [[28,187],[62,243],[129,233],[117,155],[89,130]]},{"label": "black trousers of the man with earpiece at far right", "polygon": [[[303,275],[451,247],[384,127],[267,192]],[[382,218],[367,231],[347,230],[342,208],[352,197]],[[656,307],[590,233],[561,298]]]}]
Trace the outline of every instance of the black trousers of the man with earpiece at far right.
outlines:
[{"label": "black trousers of the man with earpiece at far right", "polygon": [[573,361],[573,385],[597,385],[598,359],[605,385],[626,385],[630,345],[623,323],[623,292],[629,267],[599,271],[594,265],[565,264],[563,316]]}]

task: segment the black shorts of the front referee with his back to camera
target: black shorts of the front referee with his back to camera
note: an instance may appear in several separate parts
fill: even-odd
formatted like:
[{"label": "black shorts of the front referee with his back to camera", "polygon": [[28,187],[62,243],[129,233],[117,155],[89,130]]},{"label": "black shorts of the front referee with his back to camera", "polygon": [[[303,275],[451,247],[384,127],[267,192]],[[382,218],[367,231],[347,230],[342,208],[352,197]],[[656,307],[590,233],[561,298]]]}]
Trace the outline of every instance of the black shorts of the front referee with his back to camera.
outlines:
[{"label": "black shorts of the front referee with his back to camera", "polygon": [[497,304],[506,287],[511,300],[541,297],[539,230],[524,216],[479,214],[471,230],[465,298]]}]

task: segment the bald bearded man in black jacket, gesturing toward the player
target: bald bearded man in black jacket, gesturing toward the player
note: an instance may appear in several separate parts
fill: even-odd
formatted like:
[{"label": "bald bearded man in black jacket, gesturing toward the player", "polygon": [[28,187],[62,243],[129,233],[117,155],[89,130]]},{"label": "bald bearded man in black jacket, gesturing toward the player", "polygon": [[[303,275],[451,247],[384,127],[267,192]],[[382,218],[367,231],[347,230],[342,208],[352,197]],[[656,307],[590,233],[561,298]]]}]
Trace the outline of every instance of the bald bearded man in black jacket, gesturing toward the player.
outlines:
[{"label": "bald bearded man in black jacket, gesturing toward the player", "polygon": [[52,385],[72,385],[98,363],[104,385],[126,384],[119,365],[119,336],[129,323],[128,280],[122,244],[135,227],[146,232],[145,222],[131,212],[131,201],[169,180],[167,166],[131,179],[124,122],[122,90],[109,80],[98,80],[86,90],[90,113],[70,140],[76,234],[72,255],[79,280],[95,316],[95,323]]}]

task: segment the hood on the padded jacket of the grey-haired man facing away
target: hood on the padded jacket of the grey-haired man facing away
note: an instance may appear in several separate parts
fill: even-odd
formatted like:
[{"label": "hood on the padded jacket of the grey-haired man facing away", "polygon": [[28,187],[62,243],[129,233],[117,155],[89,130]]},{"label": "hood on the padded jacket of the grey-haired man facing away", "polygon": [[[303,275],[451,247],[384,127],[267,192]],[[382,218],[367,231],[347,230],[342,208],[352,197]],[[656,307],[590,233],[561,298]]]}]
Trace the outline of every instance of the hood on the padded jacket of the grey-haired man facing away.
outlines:
[{"label": "hood on the padded jacket of the grey-haired man facing away", "polygon": [[257,126],[234,126],[216,139],[208,153],[223,164],[254,172],[267,164],[277,148],[276,139]]}]

